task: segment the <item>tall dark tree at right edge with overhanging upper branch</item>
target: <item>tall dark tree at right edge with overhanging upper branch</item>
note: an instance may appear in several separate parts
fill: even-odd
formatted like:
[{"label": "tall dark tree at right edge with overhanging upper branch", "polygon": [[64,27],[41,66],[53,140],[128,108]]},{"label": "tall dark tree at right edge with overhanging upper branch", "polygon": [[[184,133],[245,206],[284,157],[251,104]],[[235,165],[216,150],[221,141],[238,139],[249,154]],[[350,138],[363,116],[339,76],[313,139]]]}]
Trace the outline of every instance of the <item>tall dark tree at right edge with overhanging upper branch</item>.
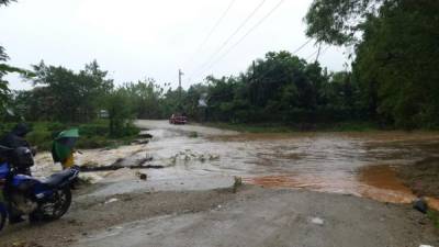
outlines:
[{"label": "tall dark tree at right edge with overhanging upper branch", "polygon": [[370,117],[439,126],[439,1],[315,0],[306,22],[318,42],[356,41],[352,77]]}]

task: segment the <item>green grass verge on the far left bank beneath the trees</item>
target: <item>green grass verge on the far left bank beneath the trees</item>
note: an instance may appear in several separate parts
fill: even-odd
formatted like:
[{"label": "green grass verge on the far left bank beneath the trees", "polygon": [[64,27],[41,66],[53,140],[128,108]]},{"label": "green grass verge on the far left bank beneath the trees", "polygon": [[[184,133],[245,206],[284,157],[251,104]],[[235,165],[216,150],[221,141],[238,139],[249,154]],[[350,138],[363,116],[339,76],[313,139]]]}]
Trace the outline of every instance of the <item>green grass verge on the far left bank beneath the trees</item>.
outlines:
[{"label": "green grass verge on the far left bank beneath the trees", "polygon": [[[99,120],[91,123],[59,123],[59,122],[30,122],[32,132],[27,134],[27,142],[37,146],[40,150],[50,150],[53,139],[61,131],[69,128],[79,130],[79,139],[77,148],[101,148],[130,144],[134,141],[139,130],[134,125],[124,128],[124,133],[120,137],[110,136],[109,122]],[[2,123],[0,125],[0,135],[4,135],[13,128],[15,123]]]}]

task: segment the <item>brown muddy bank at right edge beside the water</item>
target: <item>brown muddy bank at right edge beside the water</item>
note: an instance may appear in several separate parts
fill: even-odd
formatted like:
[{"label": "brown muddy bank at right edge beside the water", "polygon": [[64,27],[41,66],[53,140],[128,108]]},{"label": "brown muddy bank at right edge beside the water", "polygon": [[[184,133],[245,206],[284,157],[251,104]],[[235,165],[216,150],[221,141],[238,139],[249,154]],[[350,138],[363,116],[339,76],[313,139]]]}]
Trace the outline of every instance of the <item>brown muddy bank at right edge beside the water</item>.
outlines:
[{"label": "brown muddy bank at right edge beside the water", "polygon": [[418,197],[439,198],[439,157],[401,166],[397,173]]}]

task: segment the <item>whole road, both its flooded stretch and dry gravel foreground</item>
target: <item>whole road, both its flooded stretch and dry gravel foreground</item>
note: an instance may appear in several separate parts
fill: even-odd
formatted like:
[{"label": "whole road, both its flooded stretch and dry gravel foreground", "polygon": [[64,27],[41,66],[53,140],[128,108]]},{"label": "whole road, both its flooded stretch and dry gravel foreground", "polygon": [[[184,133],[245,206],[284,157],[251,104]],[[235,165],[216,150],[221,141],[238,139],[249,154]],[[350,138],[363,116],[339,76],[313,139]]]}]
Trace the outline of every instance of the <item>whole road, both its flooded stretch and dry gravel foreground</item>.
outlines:
[{"label": "whole road, both its flooded stretch and dry gravel foreground", "polygon": [[[415,199],[396,169],[435,156],[438,134],[248,134],[167,121],[136,124],[153,135],[148,144],[85,150],[78,164],[135,164],[153,157],[148,164],[162,169],[81,172],[97,184],[76,191],[68,214],[37,227],[8,227],[2,243],[439,246],[426,215],[410,205],[381,203]],[[60,168],[44,153],[36,164],[36,176]],[[250,186],[230,190],[234,177]],[[428,202],[439,209],[437,201]]]}]

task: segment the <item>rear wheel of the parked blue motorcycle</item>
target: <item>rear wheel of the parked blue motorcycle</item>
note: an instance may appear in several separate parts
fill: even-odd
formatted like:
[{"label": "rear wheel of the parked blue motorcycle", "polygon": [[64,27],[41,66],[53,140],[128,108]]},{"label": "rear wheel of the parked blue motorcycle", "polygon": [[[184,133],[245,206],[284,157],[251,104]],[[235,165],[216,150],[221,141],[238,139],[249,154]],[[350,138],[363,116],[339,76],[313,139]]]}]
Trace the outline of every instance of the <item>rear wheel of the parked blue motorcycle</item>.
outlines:
[{"label": "rear wheel of the parked blue motorcycle", "polygon": [[71,204],[71,191],[63,188],[54,191],[52,198],[38,203],[38,209],[30,215],[31,222],[54,221],[60,218],[69,210]]}]

